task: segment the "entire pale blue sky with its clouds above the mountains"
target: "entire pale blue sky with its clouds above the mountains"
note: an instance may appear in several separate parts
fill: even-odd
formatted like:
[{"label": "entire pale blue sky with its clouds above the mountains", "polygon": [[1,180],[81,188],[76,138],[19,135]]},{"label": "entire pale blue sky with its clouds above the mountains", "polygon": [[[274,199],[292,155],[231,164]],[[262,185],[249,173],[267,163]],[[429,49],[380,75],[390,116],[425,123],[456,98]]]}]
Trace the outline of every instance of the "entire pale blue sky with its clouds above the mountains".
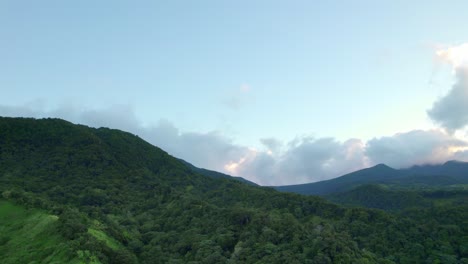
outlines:
[{"label": "entire pale blue sky with its clouds above the mountains", "polygon": [[262,185],[468,161],[466,1],[0,0],[0,116]]}]

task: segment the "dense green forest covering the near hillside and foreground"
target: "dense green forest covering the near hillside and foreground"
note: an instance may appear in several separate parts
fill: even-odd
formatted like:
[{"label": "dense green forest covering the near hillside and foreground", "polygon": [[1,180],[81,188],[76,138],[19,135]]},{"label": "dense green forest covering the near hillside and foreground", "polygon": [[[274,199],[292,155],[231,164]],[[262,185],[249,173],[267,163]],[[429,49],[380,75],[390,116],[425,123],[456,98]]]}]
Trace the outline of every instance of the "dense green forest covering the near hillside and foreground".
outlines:
[{"label": "dense green forest covering the near hillside and foreground", "polygon": [[3,263],[468,263],[463,192],[342,206],[208,177],[136,135],[59,119],[0,118],[0,193]]}]

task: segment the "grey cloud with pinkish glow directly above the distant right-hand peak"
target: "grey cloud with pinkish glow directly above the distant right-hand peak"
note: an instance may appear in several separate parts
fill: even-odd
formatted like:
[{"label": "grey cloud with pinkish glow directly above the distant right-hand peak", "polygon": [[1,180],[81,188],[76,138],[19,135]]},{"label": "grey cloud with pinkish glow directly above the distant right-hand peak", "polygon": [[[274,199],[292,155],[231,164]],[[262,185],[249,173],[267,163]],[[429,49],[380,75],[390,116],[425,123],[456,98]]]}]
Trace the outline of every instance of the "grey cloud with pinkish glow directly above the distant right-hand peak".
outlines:
[{"label": "grey cloud with pinkish glow directly above the distant right-hand peak", "polygon": [[468,142],[442,130],[413,130],[367,142],[365,154],[370,164],[385,163],[404,168],[416,164],[437,164],[451,159],[466,160],[462,152]]}]

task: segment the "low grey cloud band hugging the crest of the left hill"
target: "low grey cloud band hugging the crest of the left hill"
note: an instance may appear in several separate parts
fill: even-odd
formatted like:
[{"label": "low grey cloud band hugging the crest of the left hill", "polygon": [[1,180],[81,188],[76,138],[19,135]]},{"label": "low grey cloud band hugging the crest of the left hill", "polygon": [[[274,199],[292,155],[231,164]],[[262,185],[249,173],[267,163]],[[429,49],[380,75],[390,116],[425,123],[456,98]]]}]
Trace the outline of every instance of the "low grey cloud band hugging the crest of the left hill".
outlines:
[{"label": "low grey cloud band hugging the crest of the left hill", "polygon": [[239,160],[249,149],[238,146],[221,133],[181,132],[170,121],[161,119],[156,124],[143,125],[131,105],[112,105],[107,108],[88,109],[68,102],[48,110],[36,101],[22,106],[0,105],[0,116],[57,117],[92,127],[110,127],[131,132],[162,148],[169,154],[195,166],[225,171],[225,164]]}]

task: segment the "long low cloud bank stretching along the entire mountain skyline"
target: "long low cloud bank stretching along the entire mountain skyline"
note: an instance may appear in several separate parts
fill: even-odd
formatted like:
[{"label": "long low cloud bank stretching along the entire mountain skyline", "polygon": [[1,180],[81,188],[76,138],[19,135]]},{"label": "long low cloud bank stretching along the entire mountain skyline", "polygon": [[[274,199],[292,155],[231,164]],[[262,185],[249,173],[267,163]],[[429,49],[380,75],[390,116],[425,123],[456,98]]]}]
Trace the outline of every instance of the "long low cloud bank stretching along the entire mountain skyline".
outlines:
[{"label": "long low cloud bank stretching along the entire mountain skyline", "polygon": [[235,144],[217,131],[182,132],[168,120],[144,125],[129,105],[85,109],[73,104],[47,110],[44,104],[0,106],[1,116],[58,117],[93,127],[129,131],[196,166],[239,175],[262,185],[326,180],[385,163],[395,168],[415,164],[468,161],[468,142],[441,129],[413,130],[367,142],[299,137],[289,142],[260,140],[261,149]]}]

